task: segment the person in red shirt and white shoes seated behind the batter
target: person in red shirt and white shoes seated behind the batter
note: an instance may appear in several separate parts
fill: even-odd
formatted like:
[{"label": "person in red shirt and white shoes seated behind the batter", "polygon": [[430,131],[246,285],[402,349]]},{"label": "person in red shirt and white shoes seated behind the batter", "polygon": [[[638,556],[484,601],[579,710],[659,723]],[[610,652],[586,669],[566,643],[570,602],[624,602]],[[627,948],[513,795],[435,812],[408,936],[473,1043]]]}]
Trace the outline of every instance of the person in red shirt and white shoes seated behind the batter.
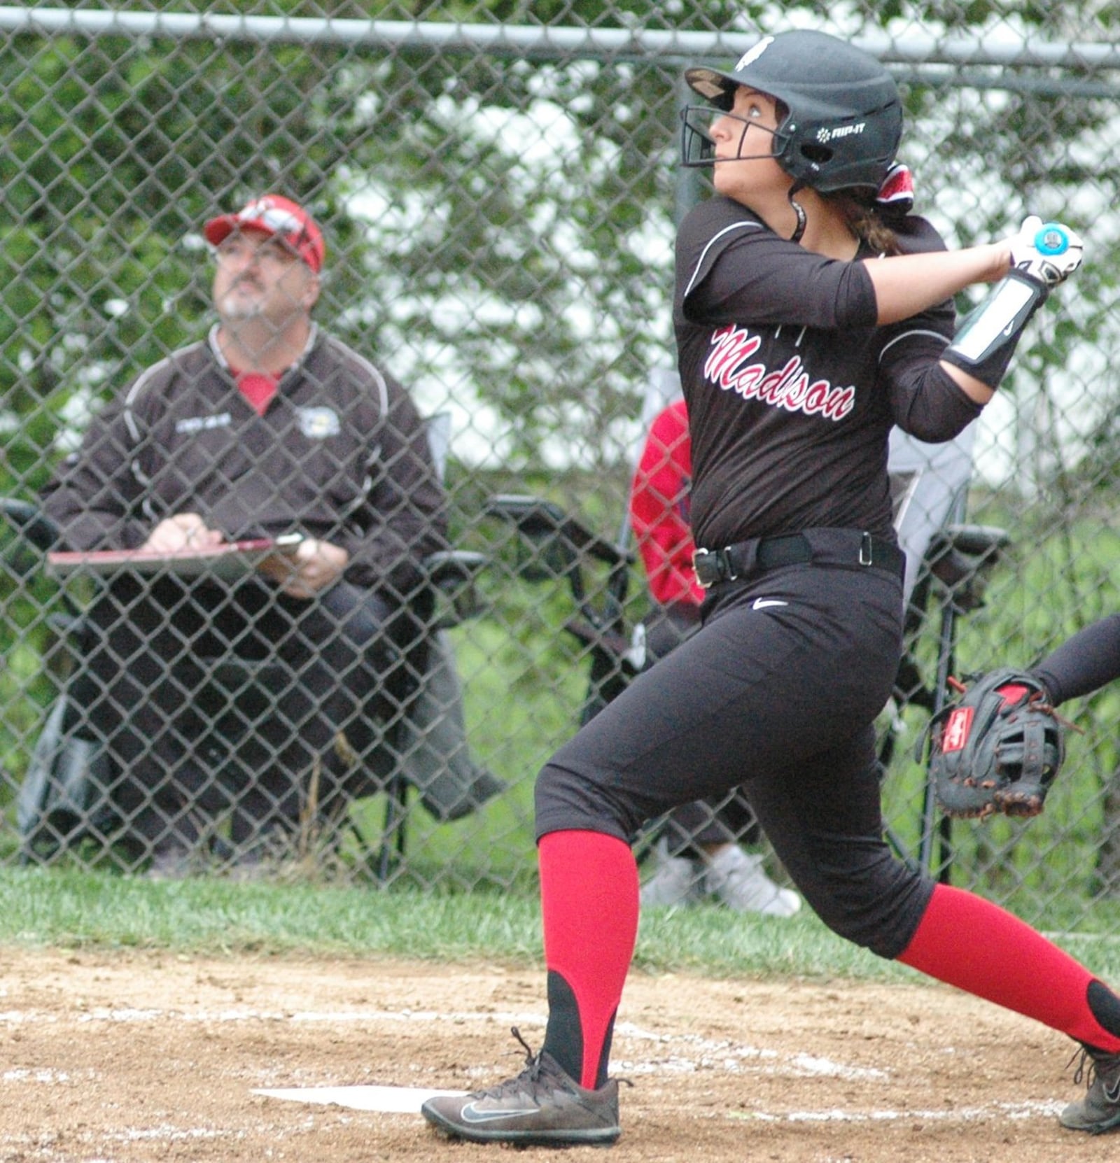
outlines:
[{"label": "person in red shirt and white shoes seated behind the batter", "polygon": [[[630,526],[656,602],[644,622],[648,665],[700,628],[704,588],[692,568],[691,484],[689,412],[682,399],[654,418],[630,488]],[[801,898],[766,876],[759,852],[740,847],[761,840],[742,789],[675,808],[658,829],[642,904],[690,905],[711,897],[736,912],[792,916]]]}]

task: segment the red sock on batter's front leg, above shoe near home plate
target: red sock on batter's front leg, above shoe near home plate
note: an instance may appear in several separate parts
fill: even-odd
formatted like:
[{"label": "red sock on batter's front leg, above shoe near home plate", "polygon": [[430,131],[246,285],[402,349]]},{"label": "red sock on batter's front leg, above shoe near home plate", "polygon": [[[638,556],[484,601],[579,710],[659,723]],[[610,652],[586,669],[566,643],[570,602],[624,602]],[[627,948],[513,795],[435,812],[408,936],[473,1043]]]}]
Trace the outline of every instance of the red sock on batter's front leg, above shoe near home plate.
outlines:
[{"label": "red sock on batter's front leg, above shoe near home plate", "polygon": [[549,972],[544,1048],[582,1086],[599,1087],[637,939],[637,865],[629,844],[598,832],[551,832],[538,859]]}]

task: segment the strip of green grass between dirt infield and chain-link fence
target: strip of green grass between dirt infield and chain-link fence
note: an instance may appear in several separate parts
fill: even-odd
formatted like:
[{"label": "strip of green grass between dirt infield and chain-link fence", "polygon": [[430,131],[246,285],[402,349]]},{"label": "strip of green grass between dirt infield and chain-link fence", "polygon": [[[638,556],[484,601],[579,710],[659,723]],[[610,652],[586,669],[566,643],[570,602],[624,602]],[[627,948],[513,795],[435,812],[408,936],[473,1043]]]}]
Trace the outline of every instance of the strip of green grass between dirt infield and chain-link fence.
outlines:
[{"label": "strip of green grass between dirt infield and chain-link fence", "polygon": [[[152,883],[62,869],[0,871],[0,947],[149,949],[206,956],[385,958],[540,968],[536,894],[476,890]],[[1055,934],[1106,979],[1120,939]],[[814,916],[776,921],[714,906],[647,912],[635,970],[708,977],[920,982],[829,933]]]}]

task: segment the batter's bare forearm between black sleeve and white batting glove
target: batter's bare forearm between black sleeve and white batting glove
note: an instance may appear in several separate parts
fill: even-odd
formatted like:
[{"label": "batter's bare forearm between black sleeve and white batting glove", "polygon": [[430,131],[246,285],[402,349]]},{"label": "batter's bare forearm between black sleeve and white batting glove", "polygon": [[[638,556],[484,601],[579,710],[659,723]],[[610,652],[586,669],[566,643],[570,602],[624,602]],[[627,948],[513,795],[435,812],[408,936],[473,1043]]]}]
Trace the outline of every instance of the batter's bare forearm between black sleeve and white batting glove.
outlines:
[{"label": "batter's bare forearm between black sleeve and white batting glove", "polygon": [[1001,279],[1011,266],[1011,247],[1003,241],[964,250],[892,255],[864,259],[864,266],[875,287],[878,322],[884,326],[927,311],[976,283]]}]

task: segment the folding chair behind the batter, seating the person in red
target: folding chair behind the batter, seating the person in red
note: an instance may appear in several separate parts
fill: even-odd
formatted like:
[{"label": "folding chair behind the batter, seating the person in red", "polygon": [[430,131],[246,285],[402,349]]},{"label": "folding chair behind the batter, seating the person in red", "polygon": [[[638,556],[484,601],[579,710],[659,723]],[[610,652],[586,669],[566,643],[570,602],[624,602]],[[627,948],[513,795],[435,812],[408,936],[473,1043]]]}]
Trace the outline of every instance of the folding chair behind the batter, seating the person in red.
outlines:
[{"label": "folding chair behind the batter, seating the person in red", "polygon": [[[649,377],[642,405],[642,433],[632,457],[636,468],[645,433],[654,416],[680,394],[675,371],[657,370]],[[957,623],[983,604],[986,577],[1010,543],[1005,530],[963,523],[972,471],[973,429],[956,440],[928,444],[894,429],[887,468],[891,476],[894,527],[906,554],[904,599],[904,656],[894,684],[890,726],[879,747],[879,765],[886,773],[893,758],[906,707],[935,714],[944,704],[954,666]],[[590,657],[590,677],[580,722],[586,722],[615,698],[645,664],[641,622],[628,627],[625,605],[635,563],[629,514],[625,513],[614,541],[590,531],[578,519],[549,501],[532,497],[497,497],[488,512],[512,521],[532,547],[532,580],[561,580],[571,593],[576,614],[565,629],[583,643]],[[585,570],[588,558],[608,568],[606,585],[588,594]],[[928,679],[915,648],[932,619],[937,622],[935,673]],[[933,789],[923,789],[920,841],[916,858],[930,866],[940,837],[937,869],[949,875],[951,821],[939,821]],[[900,855],[908,855],[893,835]]]}]

